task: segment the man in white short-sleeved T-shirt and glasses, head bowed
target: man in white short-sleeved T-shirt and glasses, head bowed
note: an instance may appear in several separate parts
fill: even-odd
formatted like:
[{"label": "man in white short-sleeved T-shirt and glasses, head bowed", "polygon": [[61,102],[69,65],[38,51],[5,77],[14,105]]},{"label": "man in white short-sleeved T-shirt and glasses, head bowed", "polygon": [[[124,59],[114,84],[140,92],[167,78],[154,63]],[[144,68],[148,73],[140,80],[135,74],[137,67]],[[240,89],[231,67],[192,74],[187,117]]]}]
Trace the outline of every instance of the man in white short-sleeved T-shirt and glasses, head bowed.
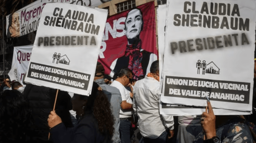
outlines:
[{"label": "man in white short-sleeved T-shirt and glasses, head bowed", "polygon": [[133,113],[131,97],[133,97],[133,94],[125,86],[131,82],[132,78],[133,74],[130,69],[121,69],[117,79],[111,84],[111,86],[119,89],[122,97],[119,126],[121,143],[131,143],[131,117]]}]

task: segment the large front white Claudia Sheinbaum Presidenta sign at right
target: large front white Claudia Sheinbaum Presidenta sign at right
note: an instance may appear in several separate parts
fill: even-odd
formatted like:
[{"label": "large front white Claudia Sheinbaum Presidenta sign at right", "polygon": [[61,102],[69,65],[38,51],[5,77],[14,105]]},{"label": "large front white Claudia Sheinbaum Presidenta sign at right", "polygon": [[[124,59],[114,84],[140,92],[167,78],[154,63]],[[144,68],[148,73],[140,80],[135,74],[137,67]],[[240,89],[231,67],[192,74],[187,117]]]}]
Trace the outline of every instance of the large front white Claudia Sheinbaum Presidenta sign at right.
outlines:
[{"label": "large front white Claudia Sheinbaum Presidenta sign at right", "polygon": [[252,110],[255,0],[168,2],[162,102]]}]

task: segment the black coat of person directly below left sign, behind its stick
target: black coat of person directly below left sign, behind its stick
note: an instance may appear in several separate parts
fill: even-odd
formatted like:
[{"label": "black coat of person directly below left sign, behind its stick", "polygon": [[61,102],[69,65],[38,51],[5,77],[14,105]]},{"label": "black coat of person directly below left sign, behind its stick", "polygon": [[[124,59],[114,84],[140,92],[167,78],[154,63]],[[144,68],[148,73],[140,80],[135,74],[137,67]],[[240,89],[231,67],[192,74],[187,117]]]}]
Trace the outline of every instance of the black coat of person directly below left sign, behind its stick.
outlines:
[{"label": "black coat of person directly below left sign, behind its stick", "polygon": [[[33,140],[36,143],[48,142],[50,128],[47,119],[50,111],[53,110],[56,92],[57,89],[32,84],[27,84],[24,89],[24,96],[29,100],[35,122],[36,135]],[[69,110],[72,110],[71,97],[67,92],[59,91],[55,111],[67,127],[72,127]]]}]

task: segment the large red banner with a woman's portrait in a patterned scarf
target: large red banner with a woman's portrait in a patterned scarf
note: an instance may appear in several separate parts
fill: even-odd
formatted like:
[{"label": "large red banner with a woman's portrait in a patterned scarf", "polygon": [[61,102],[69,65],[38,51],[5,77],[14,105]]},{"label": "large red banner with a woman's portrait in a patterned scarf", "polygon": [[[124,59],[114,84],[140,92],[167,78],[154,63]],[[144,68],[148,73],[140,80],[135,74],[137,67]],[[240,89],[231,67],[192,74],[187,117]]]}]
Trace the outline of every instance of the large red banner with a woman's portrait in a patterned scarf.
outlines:
[{"label": "large red banner with a woman's portrait in a patterned scarf", "polygon": [[[133,53],[134,60],[131,60],[131,56],[127,56],[128,41],[129,44],[138,46],[142,53]],[[113,74],[121,68],[129,68],[137,74],[137,77],[141,75],[142,69],[145,76],[151,63],[158,58],[154,2],[110,16],[107,19],[100,50],[98,61],[103,64],[105,74],[113,77]],[[139,60],[136,60],[136,57],[139,57],[137,58]],[[132,62],[135,64],[131,64]],[[137,77],[133,78],[137,79]]]}]

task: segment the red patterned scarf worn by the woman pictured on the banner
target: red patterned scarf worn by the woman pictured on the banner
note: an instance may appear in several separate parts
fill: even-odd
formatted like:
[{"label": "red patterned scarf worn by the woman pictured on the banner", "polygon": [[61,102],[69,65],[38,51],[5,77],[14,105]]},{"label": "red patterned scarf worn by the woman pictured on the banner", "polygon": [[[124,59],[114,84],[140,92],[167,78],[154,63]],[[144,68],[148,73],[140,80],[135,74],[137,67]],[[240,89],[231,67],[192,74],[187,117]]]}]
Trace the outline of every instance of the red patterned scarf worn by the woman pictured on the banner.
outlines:
[{"label": "red patterned scarf worn by the woman pictured on the banner", "polygon": [[132,70],[134,74],[133,79],[138,80],[139,76],[143,76],[142,52],[140,52],[141,40],[137,45],[127,45],[126,47],[125,57],[129,56],[128,69]]}]

